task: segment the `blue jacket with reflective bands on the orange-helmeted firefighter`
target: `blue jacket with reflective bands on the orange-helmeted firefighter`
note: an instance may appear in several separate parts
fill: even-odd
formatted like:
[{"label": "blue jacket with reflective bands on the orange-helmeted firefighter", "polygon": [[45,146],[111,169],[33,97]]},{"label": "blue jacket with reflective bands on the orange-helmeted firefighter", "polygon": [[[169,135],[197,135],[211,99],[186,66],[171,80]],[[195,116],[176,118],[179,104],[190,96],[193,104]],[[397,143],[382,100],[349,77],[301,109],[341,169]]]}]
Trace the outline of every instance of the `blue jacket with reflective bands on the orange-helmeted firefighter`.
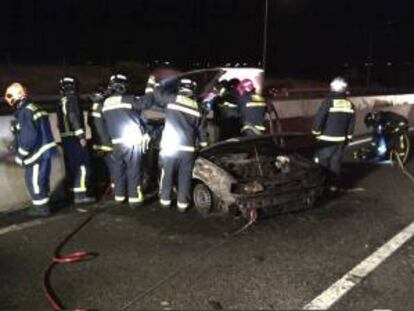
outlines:
[{"label": "blue jacket with reflective bands on the orange-helmeted firefighter", "polygon": [[56,143],[50,127],[48,113],[35,104],[22,101],[15,113],[17,119],[17,155],[20,165],[33,165],[56,154]]}]

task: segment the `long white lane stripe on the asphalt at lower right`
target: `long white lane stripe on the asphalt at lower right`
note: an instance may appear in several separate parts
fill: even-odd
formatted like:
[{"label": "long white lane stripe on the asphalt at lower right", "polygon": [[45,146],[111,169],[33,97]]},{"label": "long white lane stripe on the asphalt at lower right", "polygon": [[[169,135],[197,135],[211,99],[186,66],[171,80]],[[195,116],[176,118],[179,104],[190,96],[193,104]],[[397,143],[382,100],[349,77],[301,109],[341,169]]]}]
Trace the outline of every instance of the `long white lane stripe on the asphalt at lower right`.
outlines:
[{"label": "long white lane stripe on the asphalt at lower right", "polygon": [[321,293],[303,307],[304,310],[326,310],[332,307],[348,291],[358,285],[364,278],[374,271],[381,263],[396,252],[405,242],[414,236],[414,222],[408,225],[391,240],[377,249],[342,278],[332,284],[327,290]]}]

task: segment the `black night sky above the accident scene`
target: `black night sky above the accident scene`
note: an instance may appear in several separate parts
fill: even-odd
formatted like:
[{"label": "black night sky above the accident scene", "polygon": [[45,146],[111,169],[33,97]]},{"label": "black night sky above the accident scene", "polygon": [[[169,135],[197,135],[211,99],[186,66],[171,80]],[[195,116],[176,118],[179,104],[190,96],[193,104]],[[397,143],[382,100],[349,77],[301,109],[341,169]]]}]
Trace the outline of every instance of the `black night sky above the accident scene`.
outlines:
[{"label": "black night sky above the accident scene", "polygon": [[[262,59],[264,4],[265,0],[2,1],[0,63],[162,59],[257,65]],[[269,0],[270,72],[330,73],[366,62],[408,68],[411,62],[414,66],[413,55],[414,1]]]}]

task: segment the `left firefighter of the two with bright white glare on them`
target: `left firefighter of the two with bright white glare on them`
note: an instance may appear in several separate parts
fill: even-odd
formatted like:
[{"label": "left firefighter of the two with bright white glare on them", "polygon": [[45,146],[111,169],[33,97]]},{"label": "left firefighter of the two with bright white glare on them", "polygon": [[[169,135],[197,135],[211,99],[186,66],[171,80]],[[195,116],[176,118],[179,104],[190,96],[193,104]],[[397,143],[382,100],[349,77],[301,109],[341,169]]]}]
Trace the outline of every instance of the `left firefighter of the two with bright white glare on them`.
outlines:
[{"label": "left firefighter of the two with bright white glare on them", "polygon": [[108,88],[112,95],[103,103],[102,116],[113,146],[115,201],[122,203],[128,195],[130,207],[135,208],[144,202],[142,156],[150,142],[146,120],[141,116],[143,104],[126,94],[125,75],[111,76]]}]

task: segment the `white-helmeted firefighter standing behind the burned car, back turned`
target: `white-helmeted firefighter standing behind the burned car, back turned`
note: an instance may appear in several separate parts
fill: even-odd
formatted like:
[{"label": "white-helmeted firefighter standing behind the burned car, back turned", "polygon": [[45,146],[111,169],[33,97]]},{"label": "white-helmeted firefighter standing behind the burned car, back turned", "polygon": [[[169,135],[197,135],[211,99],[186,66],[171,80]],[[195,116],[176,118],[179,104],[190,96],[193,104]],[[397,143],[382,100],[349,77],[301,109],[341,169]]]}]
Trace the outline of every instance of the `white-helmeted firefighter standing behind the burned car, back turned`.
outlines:
[{"label": "white-helmeted firefighter standing behind the burned car, back turned", "polygon": [[347,99],[348,84],[341,78],[335,78],[330,84],[330,93],[317,112],[312,133],[327,145],[319,149],[315,162],[331,172],[331,188],[338,188],[342,155],[347,143],[352,139],[355,123],[355,106]]}]

